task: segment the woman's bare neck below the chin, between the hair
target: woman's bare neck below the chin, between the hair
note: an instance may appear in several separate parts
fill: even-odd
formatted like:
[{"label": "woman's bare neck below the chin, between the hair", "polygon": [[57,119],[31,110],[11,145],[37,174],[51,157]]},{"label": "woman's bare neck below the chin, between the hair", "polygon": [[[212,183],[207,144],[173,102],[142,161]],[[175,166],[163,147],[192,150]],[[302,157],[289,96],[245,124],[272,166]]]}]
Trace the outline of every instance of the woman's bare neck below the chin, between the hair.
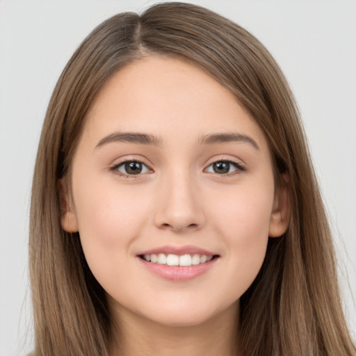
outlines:
[{"label": "woman's bare neck below the chin, between the hair", "polygon": [[236,356],[236,304],[199,325],[161,325],[127,309],[115,316],[113,356]]}]

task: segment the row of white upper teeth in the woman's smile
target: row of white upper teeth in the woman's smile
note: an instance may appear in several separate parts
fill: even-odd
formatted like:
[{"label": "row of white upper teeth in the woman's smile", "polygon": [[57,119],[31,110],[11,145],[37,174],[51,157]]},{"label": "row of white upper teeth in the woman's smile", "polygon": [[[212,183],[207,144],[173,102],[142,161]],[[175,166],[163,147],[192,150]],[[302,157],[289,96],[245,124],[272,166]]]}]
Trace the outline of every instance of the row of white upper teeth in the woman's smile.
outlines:
[{"label": "row of white upper teeth in the woman's smile", "polygon": [[204,264],[211,261],[213,256],[206,254],[144,254],[143,259],[154,264],[167,264],[168,266],[196,266],[197,264]]}]

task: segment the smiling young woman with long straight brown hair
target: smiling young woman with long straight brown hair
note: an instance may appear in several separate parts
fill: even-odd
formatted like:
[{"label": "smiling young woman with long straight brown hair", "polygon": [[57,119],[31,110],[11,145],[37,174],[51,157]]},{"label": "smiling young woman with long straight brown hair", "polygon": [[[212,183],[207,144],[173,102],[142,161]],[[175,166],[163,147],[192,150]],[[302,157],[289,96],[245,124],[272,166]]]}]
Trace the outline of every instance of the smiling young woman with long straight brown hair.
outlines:
[{"label": "smiling young woman with long straight brown hair", "polygon": [[33,355],[355,355],[298,110],[250,33],[186,3],[92,31],[31,200]]}]

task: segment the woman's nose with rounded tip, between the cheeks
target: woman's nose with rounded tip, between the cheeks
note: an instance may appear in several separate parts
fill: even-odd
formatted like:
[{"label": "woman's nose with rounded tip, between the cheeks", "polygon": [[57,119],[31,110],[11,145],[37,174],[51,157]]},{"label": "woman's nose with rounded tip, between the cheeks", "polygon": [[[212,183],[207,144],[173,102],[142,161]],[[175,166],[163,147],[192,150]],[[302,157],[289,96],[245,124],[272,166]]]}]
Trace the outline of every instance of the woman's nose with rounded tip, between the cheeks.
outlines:
[{"label": "woman's nose with rounded tip, between the cheeks", "polygon": [[205,223],[200,189],[186,175],[166,177],[161,182],[154,224],[159,229],[173,232],[191,232]]}]

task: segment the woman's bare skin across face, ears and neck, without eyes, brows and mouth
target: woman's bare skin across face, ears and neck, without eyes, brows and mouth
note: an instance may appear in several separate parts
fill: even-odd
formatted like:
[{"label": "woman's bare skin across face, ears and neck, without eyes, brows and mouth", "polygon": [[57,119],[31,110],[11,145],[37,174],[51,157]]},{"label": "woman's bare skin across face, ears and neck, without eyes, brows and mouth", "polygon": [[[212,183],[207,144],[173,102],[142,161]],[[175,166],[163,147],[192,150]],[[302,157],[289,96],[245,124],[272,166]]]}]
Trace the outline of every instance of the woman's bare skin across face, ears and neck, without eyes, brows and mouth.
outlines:
[{"label": "woman's bare skin across face, ears and neck, without eyes, brows and mouth", "polygon": [[[156,142],[99,144],[118,132]],[[251,140],[201,143],[215,133]],[[118,168],[124,161],[142,162],[142,173]],[[238,168],[217,173],[216,161]],[[234,96],[182,60],[136,60],[92,103],[69,179],[63,229],[79,231],[107,293],[120,328],[113,355],[118,344],[120,355],[233,355],[238,300],[264,261],[268,235],[282,235],[289,220],[264,133]],[[166,280],[138,257],[162,245],[194,245],[218,258],[193,280]]]}]

